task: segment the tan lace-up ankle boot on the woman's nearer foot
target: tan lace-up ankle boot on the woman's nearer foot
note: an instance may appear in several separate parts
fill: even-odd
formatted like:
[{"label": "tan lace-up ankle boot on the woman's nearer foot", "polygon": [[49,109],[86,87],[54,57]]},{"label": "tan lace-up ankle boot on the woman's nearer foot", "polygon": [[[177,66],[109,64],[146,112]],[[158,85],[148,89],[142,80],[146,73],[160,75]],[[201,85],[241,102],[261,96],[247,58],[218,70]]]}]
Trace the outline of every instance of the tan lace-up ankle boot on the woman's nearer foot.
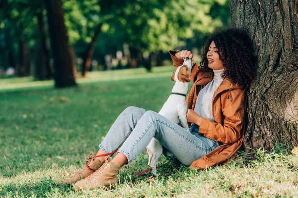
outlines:
[{"label": "tan lace-up ankle boot on the woman's nearer foot", "polygon": [[117,183],[117,173],[120,166],[112,163],[110,157],[105,157],[104,164],[92,175],[74,184],[75,189],[93,190],[100,186],[110,187]]}]

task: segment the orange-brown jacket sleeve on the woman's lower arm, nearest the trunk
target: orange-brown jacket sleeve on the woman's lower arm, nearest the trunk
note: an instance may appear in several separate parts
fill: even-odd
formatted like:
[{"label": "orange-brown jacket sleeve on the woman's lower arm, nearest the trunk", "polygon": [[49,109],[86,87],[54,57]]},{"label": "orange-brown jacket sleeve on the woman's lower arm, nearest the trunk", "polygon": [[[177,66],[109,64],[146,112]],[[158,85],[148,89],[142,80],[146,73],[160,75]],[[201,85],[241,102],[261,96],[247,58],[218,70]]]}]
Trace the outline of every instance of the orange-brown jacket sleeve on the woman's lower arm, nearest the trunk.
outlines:
[{"label": "orange-brown jacket sleeve on the woman's lower arm, nearest the trunk", "polygon": [[199,134],[224,144],[232,144],[241,137],[241,129],[244,125],[244,91],[242,89],[235,89],[230,93],[226,91],[221,98],[224,123],[212,122],[202,117]]}]

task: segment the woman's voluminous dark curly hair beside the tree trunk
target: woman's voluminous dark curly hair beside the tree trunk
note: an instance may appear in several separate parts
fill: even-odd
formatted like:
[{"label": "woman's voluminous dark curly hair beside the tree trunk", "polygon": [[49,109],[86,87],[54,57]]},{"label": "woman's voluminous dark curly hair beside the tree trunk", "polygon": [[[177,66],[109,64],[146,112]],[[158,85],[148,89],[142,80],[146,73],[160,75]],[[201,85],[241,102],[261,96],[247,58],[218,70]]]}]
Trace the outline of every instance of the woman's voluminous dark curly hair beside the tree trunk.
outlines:
[{"label": "woman's voluminous dark curly hair beside the tree trunk", "polygon": [[251,81],[256,75],[256,58],[249,36],[244,31],[235,28],[213,34],[205,42],[199,66],[200,72],[212,71],[208,67],[207,59],[208,48],[212,41],[219,49],[220,60],[223,62],[223,77],[248,91]]}]

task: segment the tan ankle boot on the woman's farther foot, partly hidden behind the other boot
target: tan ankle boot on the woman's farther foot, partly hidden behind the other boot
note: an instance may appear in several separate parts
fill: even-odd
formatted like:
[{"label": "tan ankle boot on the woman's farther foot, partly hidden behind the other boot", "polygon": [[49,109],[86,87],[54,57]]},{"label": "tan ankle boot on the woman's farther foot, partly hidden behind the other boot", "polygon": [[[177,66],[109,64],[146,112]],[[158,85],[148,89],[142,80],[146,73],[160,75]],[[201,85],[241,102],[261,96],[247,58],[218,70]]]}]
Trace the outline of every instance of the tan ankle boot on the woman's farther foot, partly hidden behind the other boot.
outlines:
[{"label": "tan ankle boot on the woman's farther foot, partly hidden behind the other boot", "polygon": [[77,173],[72,175],[70,178],[67,178],[64,183],[70,184],[75,183],[81,179],[85,179],[86,177],[90,176],[92,173],[97,171],[103,163],[101,163],[98,159],[93,157],[93,153],[91,152],[86,157],[86,165],[83,169],[79,170]]}]

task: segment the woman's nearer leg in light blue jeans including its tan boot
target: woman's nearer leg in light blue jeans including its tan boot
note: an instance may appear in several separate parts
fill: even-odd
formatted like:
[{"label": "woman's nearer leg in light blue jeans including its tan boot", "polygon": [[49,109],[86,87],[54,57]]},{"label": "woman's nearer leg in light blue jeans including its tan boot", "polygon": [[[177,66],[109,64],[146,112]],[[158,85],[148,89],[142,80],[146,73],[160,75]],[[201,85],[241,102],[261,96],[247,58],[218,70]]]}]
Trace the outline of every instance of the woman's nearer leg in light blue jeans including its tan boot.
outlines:
[{"label": "woman's nearer leg in light blue jeans including its tan boot", "polygon": [[[119,148],[114,159],[109,161],[109,157],[106,157],[105,164],[90,177],[75,183],[75,188],[92,190],[100,185],[116,184],[120,167],[135,159],[153,137],[185,165],[190,165],[192,161],[219,146],[216,141],[203,136],[197,137],[158,113],[147,111]],[[112,150],[110,148],[108,151]]]}]

